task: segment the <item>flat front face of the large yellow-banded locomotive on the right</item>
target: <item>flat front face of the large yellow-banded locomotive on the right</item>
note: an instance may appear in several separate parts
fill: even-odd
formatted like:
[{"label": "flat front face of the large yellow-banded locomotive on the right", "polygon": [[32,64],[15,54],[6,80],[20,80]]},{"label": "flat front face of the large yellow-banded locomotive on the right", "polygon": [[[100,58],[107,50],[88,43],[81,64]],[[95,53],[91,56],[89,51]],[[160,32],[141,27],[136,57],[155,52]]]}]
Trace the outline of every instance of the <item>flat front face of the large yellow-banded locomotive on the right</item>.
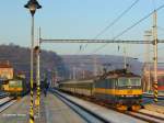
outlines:
[{"label": "flat front face of the large yellow-banded locomotive on the right", "polygon": [[119,104],[131,110],[141,108],[142,87],[140,77],[119,77],[116,86],[116,94]]}]

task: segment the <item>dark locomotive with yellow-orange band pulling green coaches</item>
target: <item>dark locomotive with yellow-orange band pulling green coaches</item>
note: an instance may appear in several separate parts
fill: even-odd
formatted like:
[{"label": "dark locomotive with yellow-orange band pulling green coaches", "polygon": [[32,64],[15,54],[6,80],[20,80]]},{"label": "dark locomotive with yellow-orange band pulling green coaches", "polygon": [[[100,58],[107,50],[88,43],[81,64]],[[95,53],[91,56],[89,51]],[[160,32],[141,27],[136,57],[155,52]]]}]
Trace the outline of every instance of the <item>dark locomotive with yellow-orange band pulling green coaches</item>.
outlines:
[{"label": "dark locomotive with yellow-orange band pulling green coaches", "polygon": [[109,71],[95,80],[94,97],[119,110],[138,110],[142,98],[141,77],[126,69]]}]

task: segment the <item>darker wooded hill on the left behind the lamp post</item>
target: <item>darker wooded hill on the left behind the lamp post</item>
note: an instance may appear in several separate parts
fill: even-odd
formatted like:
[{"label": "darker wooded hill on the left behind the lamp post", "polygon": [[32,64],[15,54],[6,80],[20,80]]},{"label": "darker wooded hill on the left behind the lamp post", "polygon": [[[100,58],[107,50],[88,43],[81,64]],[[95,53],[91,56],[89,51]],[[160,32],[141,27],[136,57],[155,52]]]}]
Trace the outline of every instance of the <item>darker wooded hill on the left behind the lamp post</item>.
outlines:
[{"label": "darker wooded hill on the left behind the lamp post", "polygon": [[[26,47],[21,47],[19,45],[0,45],[0,62],[9,60],[13,66],[15,74],[23,71],[26,77],[30,77],[30,66],[31,66],[31,49]],[[34,58],[35,59],[35,58]],[[35,67],[34,63],[34,67]],[[42,76],[45,72],[58,71],[58,76],[66,77],[68,75],[68,69],[66,68],[62,59],[54,52],[42,51],[40,52],[40,70]]]}]

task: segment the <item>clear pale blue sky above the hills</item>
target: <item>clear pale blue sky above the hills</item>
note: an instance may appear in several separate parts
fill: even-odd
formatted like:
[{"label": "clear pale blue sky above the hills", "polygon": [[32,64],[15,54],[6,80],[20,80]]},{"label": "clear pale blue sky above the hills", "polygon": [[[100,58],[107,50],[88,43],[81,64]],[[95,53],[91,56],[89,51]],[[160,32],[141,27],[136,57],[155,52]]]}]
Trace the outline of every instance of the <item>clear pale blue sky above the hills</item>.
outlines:
[{"label": "clear pale blue sky above the hills", "polygon": [[[95,36],[109,25],[122,11],[136,0],[38,0],[43,9],[35,14],[35,41],[38,40],[38,27],[43,38],[89,38]],[[31,14],[24,8],[27,0],[1,0],[0,3],[0,44],[31,46]],[[155,8],[164,4],[164,0],[139,0],[114,26],[97,38],[112,40],[128,26],[142,19]],[[159,38],[164,38],[164,9],[157,12]],[[117,40],[143,40],[144,31],[152,29],[152,16],[128,31]],[[122,55],[124,46],[127,55],[144,58],[145,45],[108,44],[94,52],[102,44],[89,44],[80,51],[81,44],[42,44],[42,48],[57,54],[102,54]],[[164,44],[159,44],[159,58],[163,60]],[[152,45],[150,46],[152,49]]]}]

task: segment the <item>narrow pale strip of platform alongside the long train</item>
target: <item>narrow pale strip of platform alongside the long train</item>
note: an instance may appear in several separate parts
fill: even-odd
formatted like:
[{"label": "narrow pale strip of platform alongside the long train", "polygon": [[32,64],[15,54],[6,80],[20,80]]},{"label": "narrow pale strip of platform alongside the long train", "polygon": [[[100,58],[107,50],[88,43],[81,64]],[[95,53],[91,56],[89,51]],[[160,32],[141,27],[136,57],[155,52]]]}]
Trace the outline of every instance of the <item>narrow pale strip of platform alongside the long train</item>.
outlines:
[{"label": "narrow pale strip of platform alongside the long train", "polygon": [[[57,92],[59,92],[59,91],[57,91]],[[83,108],[87,109],[89,111],[94,112],[95,114],[106,119],[107,121],[110,121],[112,123],[148,123],[148,122],[141,121],[139,119],[131,118],[130,115],[126,115],[124,113],[119,113],[117,111],[106,109],[102,105],[79,99],[77,97],[72,97],[72,96],[63,93],[63,92],[60,92],[60,94],[65,96],[66,98],[70,99],[71,101],[78,103],[79,105],[82,105]]]}]

